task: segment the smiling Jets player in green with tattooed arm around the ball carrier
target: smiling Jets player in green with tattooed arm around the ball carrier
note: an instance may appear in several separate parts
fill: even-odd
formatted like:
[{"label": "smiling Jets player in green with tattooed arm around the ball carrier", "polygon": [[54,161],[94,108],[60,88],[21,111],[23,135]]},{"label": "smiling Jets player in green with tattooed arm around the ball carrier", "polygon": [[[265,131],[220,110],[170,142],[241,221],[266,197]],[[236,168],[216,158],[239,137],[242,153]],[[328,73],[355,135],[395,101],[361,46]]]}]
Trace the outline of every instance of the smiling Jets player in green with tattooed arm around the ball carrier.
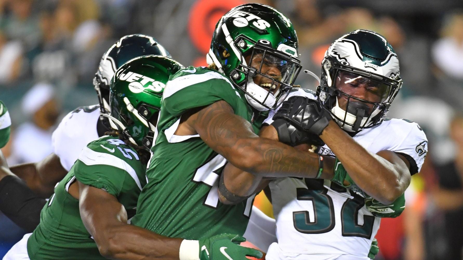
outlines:
[{"label": "smiling Jets player in green with tattooed arm around the ball carrier", "polygon": [[[269,109],[292,88],[300,70],[297,57],[291,22],[269,6],[238,6],[219,20],[207,55],[210,66],[183,69],[166,85],[148,183],[132,224],[188,239],[181,242],[181,260],[244,259],[241,248],[230,243],[201,242],[220,233],[242,235],[250,217],[252,194],[228,196],[244,199],[235,205],[219,202],[225,163],[258,176],[319,173],[318,155],[256,134]],[[321,172],[332,174],[334,159],[325,160]]]}]

